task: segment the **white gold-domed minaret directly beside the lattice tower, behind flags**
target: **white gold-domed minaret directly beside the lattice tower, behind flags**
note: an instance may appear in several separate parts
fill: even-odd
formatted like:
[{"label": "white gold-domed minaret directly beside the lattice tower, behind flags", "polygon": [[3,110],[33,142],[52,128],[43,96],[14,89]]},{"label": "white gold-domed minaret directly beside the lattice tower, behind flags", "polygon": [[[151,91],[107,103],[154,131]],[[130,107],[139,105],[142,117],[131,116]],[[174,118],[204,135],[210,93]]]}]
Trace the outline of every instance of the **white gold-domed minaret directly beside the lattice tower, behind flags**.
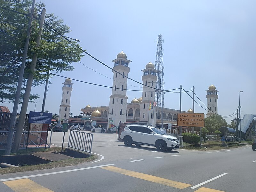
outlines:
[{"label": "white gold-domed minaret directly beside the lattice tower, behind flags", "polygon": [[[146,69],[143,71],[142,81],[142,98],[139,98],[140,101],[140,121],[148,121],[148,125],[155,126],[156,124],[156,107],[154,107],[155,101],[155,89],[156,80],[157,80],[157,70],[155,65],[149,62],[146,65]],[[148,85],[148,86],[146,86]],[[151,104],[151,107],[149,105]]]}]

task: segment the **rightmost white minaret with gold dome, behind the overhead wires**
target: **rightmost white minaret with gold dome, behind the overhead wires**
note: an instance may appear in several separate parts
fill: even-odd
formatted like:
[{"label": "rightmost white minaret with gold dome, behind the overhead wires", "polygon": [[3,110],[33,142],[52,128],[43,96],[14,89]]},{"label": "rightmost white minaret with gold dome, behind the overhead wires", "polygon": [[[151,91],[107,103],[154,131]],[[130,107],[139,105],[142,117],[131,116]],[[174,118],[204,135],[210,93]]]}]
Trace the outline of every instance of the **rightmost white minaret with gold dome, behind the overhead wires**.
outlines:
[{"label": "rightmost white minaret with gold dome, behind the overhead wires", "polygon": [[212,115],[216,115],[218,114],[218,94],[216,90],[216,87],[214,85],[211,85],[209,88],[209,90],[206,90],[207,95],[207,107],[208,107],[208,113],[206,114],[206,117],[212,116]]}]

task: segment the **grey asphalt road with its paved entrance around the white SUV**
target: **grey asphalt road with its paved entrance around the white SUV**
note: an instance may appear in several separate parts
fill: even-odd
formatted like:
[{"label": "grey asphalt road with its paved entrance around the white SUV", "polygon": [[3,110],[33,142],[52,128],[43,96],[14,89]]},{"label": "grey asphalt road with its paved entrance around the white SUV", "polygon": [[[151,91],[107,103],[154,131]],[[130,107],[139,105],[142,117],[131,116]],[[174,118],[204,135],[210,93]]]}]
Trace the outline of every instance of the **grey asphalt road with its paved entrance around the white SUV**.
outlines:
[{"label": "grey asphalt road with its paved entrance around the white SUV", "polygon": [[[54,132],[52,144],[61,146],[62,137]],[[92,152],[100,156],[94,163],[1,175],[0,191],[256,191],[256,152],[251,145],[158,152],[147,146],[125,147],[116,139],[117,134],[96,132]]]}]

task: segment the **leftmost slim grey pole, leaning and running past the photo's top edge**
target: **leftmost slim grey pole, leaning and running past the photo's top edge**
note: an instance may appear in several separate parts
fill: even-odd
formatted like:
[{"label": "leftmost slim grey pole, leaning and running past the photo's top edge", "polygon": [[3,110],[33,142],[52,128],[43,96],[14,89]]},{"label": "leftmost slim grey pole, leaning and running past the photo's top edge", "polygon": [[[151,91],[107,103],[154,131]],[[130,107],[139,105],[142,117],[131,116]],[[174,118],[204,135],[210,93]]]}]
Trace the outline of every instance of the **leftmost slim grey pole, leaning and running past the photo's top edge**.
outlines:
[{"label": "leftmost slim grey pole, leaning and running past the photo's top edge", "polygon": [[16,116],[17,116],[17,111],[18,111],[18,106],[19,106],[19,101],[20,101],[20,92],[21,92],[21,86],[22,86],[22,81],[23,81],[25,63],[26,63],[27,54],[28,54],[28,43],[29,43],[29,38],[30,38],[30,34],[31,34],[31,26],[32,26],[32,19],[33,19],[33,13],[34,13],[34,8],[35,8],[35,2],[36,2],[36,0],[33,0],[32,6],[31,6],[30,18],[28,21],[27,37],[26,37],[26,42],[24,45],[24,52],[23,52],[22,62],[21,62],[21,67],[20,67],[20,76],[19,76],[19,81],[18,81],[18,85],[17,85],[17,90],[15,93],[13,109],[12,109],[12,116],[11,116],[11,122],[10,122],[10,126],[9,126],[8,137],[7,137],[7,145],[6,145],[6,149],[5,149],[5,155],[10,155],[11,148],[12,148],[12,138],[13,138],[13,132],[14,132],[14,127],[15,127],[15,123],[16,123]]}]

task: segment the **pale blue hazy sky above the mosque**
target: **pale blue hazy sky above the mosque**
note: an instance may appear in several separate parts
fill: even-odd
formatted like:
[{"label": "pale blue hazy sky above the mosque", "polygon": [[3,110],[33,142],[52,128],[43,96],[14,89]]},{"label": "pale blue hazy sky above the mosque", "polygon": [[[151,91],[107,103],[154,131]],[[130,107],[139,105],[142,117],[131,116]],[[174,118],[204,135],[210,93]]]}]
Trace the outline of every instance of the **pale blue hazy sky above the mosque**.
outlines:
[{"label": "pale blue hazy sky above the mosque", "polygon": [[[36,1],[39,2],[39,1]],[[164,89],[182,85],[186,91],[195,86],[198,98],[207,105],[205,90],[213,84],[218,90],[218,114],[229,116],[239,105],[241,115],[256,114],[256,1],[68,1],[42,0],[47,13],[54,13],[71,29],[66,36],[79,39],[89,54],[114,67],[112,60],[123,51],[129,64],[128,76],[142,83],[141,76],[148,62],[155,63],[159,34],[164,42]],[[60,75],[112,86],[113,72],[85,55],[72,65],[73,71]],[[89,69],[92,68],[95,71]],[[55,72],[53,72],[55,73]],[[107,76],[107,77],[105,77]],[[65,78],[51,78],[45,110],[59,113]],[[72,80],[70,112],[78,115],[81,108],[109,104],[111,88],[89,85]],[[128,79],[127,89],[142,90],[142,85]],[[44,85],[33,87],[39,94],[36,111],[41,111]],[[192,92],[189,92],[192,96]],[[140,98],[142,92],[127,91],[128,102]],[[36,100],[36,101],[37,101]],[[200,101],[196,98],[196,101]],[[12,103],[3,103],[12,111]],[[202,105],[202,104],[201,104]],[[18,108],[18,112],[20,111]],[[179,110],[180,94],[166,92],[164,107]],[[182,94],[183,111],[192,108],[192,99]],[[34,111],[35,103],[28,110]],[[195,104],[196,113],[207,111]],[[233,119],[226,118],[227,122]]]}]

